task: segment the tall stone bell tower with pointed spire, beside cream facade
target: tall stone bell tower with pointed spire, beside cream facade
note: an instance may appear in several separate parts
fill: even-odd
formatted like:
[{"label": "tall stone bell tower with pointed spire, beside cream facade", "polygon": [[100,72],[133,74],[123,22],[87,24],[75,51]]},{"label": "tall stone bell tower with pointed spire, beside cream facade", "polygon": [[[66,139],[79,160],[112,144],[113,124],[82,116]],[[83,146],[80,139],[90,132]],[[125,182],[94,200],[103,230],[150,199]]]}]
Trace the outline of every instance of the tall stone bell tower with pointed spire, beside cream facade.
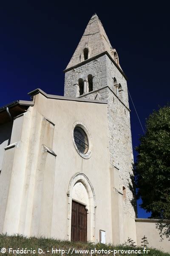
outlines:
[{"label": "tall stone bell tower with pointed spire, beside cream facade", "polygon": [[65,69],[64,95],[108,102],[113,243],[136,240],[127,77],[96,14]]}]

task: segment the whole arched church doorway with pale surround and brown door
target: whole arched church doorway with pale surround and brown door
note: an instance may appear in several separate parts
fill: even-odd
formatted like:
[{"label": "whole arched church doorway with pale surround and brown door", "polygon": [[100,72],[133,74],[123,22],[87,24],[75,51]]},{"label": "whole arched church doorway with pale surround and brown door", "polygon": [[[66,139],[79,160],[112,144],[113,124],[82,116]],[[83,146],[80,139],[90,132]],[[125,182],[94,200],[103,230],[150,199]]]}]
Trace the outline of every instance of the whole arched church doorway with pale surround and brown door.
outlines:
[{"label": "whole arched church doorway with pale surround and brown door", "polygon": [[88,177],[77,173],[68,186],[68,240],[95,241],[96,200]]}]

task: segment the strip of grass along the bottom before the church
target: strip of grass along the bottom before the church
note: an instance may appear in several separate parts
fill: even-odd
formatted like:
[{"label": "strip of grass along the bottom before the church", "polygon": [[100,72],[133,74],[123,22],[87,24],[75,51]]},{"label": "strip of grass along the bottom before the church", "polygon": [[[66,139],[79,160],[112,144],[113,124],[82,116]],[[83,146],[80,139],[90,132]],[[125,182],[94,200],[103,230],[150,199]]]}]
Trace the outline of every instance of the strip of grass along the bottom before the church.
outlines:
[{"label": "strip of grass along the bottom before the church", "polygon": [[[2,248],[6,248],[6,252],[5,253],[1,253]],[[16,251],[14,251],[14,253],[12,251],[10,251],[9,253],[9,249],[8,248],[13,248],[14,250],[32,250],[32,252],[28,252],[28,253],[23,253],[21,251],[21,253],[18,253]],[[40,252],[38,253],[38,248],[40,248]],[[53,253],[52,253],[52,248],[53,248]],[[70,251],[69,251],[69,248]],[[90,250],[94,250],[94,248],[96,248],[96,250],[101,250],[101,252],[99,253],[93,253],[91,254]],[[59,251],[56,252],[54,250],[56,249],[61,249],[61,250],[65,250],[64,251]],[[72,250],[74,249],[74,252],[72,253]],[[141,250],[142,253],[116,253],[114,254],[113,252],[110,252],[108,254],[106,254],[105,252],[102,253],[102,249],[103,250]],[[45,238],[35,238],[35,237],[31,237],[31,238],[27,238],[24,236],[20,236],[20,235],[16,235],[16,236],[7,236],[6,234],[1,234],[0,235],[0,255],[4,255],[4,256],[9,256],[9,255],[35,255],[35,256],[40,256],[40,255],[47,255],[47,256],[52,256],[52,255],[58,255],[58,256],[67,256],[67,255],[93,255],[93,256],[97,256],[97,255],[116,255],[116,256],[121,256],[121,255],[136,255],[136,256],[141,256],[141,254],[145,254],[147,256],[153,255],[153,256],[170,256],[169,253],[164,253],[161,252],[159,250],[156,250],[154,248],[146,248],[147,250],[150,250],[150,252],[148,252],[146,254],[146,252],[143,252],[143,247],[130,247],[127,245],[113,245],[113,244],[93,244],[90,242],[70,242],[70,241],[62,241],[62,240],[56,240],[56,239],[45,239]],[[33,251],[35,250],[35,251]],[[89,252],[87,253],[76,253],[75,250],[89,250]],[[42,252],[43,251],[43,252]],[[49,251],[49,252],[47,252]],[[68,253],[69,251],[69,253]],[[93,252],[93,251],[92,251]]]}]

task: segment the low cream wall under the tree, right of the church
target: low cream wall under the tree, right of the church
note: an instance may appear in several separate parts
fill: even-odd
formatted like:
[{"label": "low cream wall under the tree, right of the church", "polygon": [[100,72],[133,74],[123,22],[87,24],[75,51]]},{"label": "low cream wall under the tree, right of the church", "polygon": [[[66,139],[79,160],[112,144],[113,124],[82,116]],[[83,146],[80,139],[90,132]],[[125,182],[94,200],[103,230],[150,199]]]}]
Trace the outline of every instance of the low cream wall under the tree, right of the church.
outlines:
[{"label": "low cream wall under the tree, right of the church", "polygon": [[146,236],[149,243],[149,247],[153,247],[164,252],[170,253],[170,241],[164,237],[163,241],[160,241],[159,230],[156,229],[156,219],[136,218],[136,236],[137,245],[141,245],[141,239]]}]

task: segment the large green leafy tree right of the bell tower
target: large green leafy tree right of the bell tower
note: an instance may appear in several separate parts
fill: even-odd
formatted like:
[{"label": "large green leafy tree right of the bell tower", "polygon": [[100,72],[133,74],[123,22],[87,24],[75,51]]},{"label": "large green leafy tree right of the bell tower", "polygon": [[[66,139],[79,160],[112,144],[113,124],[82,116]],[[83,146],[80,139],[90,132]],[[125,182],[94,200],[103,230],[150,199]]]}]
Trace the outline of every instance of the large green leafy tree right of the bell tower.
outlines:
[{"label": "large green leafy tree right of the bell tower", "polygon": [[170,106],[153,111],[140,137],[135,164],[140,207],[159,218],[160,236],[170,238]]}]

